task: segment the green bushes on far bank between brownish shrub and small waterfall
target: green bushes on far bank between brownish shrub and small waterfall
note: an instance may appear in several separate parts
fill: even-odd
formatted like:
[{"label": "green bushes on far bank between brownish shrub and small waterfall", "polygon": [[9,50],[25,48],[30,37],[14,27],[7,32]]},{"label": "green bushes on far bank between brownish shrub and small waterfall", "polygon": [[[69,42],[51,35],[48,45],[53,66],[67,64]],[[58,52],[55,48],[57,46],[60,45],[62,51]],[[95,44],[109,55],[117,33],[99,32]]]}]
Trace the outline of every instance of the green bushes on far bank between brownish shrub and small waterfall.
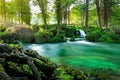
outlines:
[{"label": "green bushes on far bank between brownish shrub and small waterfall", "polygon": [[40,28],[38,32],[35,33],[35,42],[36,43],[55,43],[55,42],[63,42],[64,34],[56,35],[56,29],[52,28],[50,30],[44,30]]}]

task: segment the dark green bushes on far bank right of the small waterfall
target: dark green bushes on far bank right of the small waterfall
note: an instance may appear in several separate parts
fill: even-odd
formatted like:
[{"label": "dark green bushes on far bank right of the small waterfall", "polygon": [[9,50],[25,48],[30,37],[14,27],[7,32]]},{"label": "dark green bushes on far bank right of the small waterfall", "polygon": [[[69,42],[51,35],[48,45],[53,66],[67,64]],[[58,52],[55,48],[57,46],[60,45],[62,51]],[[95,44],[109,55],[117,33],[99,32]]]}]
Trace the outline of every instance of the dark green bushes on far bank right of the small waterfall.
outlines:
[{"label": "dark green bushes on far bank right of the small waterfall", "polygon": [[[118,29],[119,31],[119,29]],[[89,41],[97,41],[97,42],[107,42],[107,43],[116,43],[120,42],[120,34],[115,30],[100,31],[98,28],[90,29],[90,32],[87,34],[87,40]]]}]

